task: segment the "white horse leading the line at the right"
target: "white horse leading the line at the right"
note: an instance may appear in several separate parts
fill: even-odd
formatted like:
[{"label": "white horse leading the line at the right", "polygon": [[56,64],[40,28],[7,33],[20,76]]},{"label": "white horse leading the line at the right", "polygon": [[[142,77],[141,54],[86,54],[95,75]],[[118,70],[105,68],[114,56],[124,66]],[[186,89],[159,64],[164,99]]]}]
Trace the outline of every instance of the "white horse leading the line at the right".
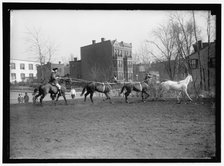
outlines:
[{"label": "white horse leading the line at the right", "polygon": [[170,89],[173,89],[173,90],[179,91],[179,94],[177,95],[178,102],[180,101],[179,96],[181,95],[182,92],[184,92],[187,95],[188,99],[190,101],[192,101],[192,99],[190,98],[190,96],[187,93],[187,86],[192,81],[193,81],[192,76],[190,74],[188,74],[188,76],[184,80],[181,80],[181,81],[168,80],[168,81],[162,82],[161,86],[162,86],[163,90],[168,91]]}]

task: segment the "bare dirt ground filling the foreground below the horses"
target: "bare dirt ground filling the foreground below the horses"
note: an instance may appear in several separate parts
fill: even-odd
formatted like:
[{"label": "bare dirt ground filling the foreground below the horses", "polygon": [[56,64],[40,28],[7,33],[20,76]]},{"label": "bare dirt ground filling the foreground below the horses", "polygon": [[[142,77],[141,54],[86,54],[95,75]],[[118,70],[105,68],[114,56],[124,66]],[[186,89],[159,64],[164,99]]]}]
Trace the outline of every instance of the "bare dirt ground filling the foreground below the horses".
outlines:
[{"label": "bare dirt ground filling the foreground below the horses", "polygon": [[176,104],[94,98],[10,106],[11,159],[210,159],[215,109],[210,102]]}]

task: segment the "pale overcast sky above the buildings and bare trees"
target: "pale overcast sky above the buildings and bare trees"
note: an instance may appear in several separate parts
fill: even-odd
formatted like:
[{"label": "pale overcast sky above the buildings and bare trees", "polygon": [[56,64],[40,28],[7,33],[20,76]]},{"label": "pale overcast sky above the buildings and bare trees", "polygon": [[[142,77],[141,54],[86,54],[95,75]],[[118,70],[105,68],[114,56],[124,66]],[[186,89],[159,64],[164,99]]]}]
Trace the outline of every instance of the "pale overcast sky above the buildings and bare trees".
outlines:
[{"label": "pale overcast sky above the buildings and bare trees", "polygon": [[[79,59],[80,47],[91,44],[92,40],[100,42],[102,37],[132,43],[132,51],[137,52],[146,39],[152,38],[156,27],[167,23],[169,13],[150,10],[14,10],[11,11],[11,58],[34,60],[34,55],[27,51],[27,29],[38,29],[44,40],[57,44],[53,62],[67,62],[71,54]],[[198,24],[205,28],[207,12],[200,11],[196,16]]]}]

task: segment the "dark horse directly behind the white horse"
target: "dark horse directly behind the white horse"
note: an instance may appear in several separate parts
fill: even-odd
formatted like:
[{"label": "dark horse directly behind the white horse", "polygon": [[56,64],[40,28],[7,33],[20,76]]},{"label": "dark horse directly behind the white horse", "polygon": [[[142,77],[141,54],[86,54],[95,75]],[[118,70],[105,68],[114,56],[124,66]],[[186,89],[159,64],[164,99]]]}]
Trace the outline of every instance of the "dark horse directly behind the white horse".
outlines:
[{"label": "dark horse directly behind the white horse", "polygon": [[[136,92],[141,92],[142,94],[142,101],[144,102],[145,99],[147,99],[150,95],[148,94],[148,90],[150,88],[150,75],[147,75],[142,82],[125,82],[122,89],[121,93],[123,93],[124,90],[125,92],[125,102],[128,103],[128,96],[132,92],[132,90]],[[144,98],[144,94],[146,94],[146,97]]]}]

